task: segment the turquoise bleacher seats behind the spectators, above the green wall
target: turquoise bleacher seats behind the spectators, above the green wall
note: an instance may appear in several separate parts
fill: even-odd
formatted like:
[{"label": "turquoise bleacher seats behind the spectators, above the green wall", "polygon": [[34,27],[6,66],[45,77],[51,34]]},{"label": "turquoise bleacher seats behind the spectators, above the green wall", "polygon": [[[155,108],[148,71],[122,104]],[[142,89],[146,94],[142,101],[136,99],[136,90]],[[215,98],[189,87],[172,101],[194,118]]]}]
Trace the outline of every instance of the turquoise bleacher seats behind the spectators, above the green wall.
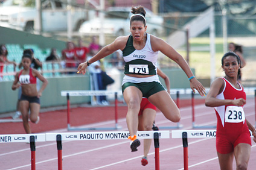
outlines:
[{"label": "turquoise bleacher seats behind the spectators, above the green wall", "polygon": [[[62,77],[65,76],[67,72],[77,72],[77,68],[65,68],[65,61],[45,61],[46,57],[48,57],[51,53],[50,48],[41,49],[38,45],[35,44],[5,44],[8,50],[8,60],[15,61],[18,65],[21,63],[21,58],[24,49],[33,49],[34,57],[39,59],[42,62],[42,68],[39,68],[39,72],[43,74],[44,77]],[[57,55],[61,58],[62,54],[59,49],[56,50]],[[104,69],[112,68],[111,62],[112,54],[101,60],[101,64]],[[1,63],[0,63],[1,64]],[[76,63],[78,65],[78,63]],[[16,68],[13,65],[1,64],[4,65],[3,71],[3,81],[13,81],[14,75],[20,69],[18,65]],[[117,69],[122,70],[123,66],[116,66]]]}]

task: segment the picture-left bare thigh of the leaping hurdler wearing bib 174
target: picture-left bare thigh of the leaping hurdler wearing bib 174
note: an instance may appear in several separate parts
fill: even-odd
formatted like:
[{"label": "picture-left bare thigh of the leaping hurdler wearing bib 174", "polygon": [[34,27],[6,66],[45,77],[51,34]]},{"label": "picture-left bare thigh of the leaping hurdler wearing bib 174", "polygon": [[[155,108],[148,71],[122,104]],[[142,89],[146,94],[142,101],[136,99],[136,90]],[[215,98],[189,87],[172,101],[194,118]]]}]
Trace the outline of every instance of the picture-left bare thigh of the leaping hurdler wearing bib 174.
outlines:
[{"label": "picture-left bare thigh of the leaping hurdler wearing bib 174", "polygon": [[126,101],[126,104],[129,104],[130,102],[135,102],[138,105],[141,104],[142,92],[138,89],[138,87],[126,87],[126,89],[124,89],[123,96],[124,101]]}]

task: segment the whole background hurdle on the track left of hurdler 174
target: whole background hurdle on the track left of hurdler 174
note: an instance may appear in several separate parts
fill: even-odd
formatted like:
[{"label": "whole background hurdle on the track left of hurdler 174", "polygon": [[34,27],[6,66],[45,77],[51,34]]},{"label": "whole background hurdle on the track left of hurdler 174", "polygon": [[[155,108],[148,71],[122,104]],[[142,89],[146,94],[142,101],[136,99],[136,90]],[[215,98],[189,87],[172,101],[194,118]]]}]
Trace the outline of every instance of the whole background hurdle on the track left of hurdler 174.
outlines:
[{"label": "whole background hurdle on the track left of hurdler 174", "polygon": [[[118,100],[117,95],[123,95],[121,90],[109,91],[109,90],[68,90],[61,91],[61,96],[66,96],[67,100],[67,129],[68,131],[86,131],[86,130],[118,130],[121,127],[118,126],[118,113],[117,106]],[[76,128],[70,125],[70,101],[69,96],[103,96],[103,95],[115,95],[115,127],[102,127],[102,128]]]}]

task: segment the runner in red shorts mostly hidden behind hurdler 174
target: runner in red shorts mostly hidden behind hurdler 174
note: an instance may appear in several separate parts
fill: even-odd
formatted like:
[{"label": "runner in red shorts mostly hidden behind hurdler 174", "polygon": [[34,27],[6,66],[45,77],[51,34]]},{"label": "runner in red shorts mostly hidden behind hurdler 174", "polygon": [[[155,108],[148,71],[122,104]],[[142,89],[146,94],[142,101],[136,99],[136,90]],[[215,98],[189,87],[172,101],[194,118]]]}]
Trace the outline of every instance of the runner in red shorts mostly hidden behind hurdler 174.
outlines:
[{"label": "runner in red shorts mostly hidden behind hurdler 174", "polygon": [[[165,86],[168,94],[170,94],[170,81],[167,75],[160,69],[157,69],[158,75],[164,79]],[[150,131],[156,117],[156,107],[147,98],[142,98],[141,109],[139,110],[139,131]],[[151,145],[151,139],[144,139],[144,156],[141,159],[141,165],[146,166],[148,164],[147,154]]]}]

